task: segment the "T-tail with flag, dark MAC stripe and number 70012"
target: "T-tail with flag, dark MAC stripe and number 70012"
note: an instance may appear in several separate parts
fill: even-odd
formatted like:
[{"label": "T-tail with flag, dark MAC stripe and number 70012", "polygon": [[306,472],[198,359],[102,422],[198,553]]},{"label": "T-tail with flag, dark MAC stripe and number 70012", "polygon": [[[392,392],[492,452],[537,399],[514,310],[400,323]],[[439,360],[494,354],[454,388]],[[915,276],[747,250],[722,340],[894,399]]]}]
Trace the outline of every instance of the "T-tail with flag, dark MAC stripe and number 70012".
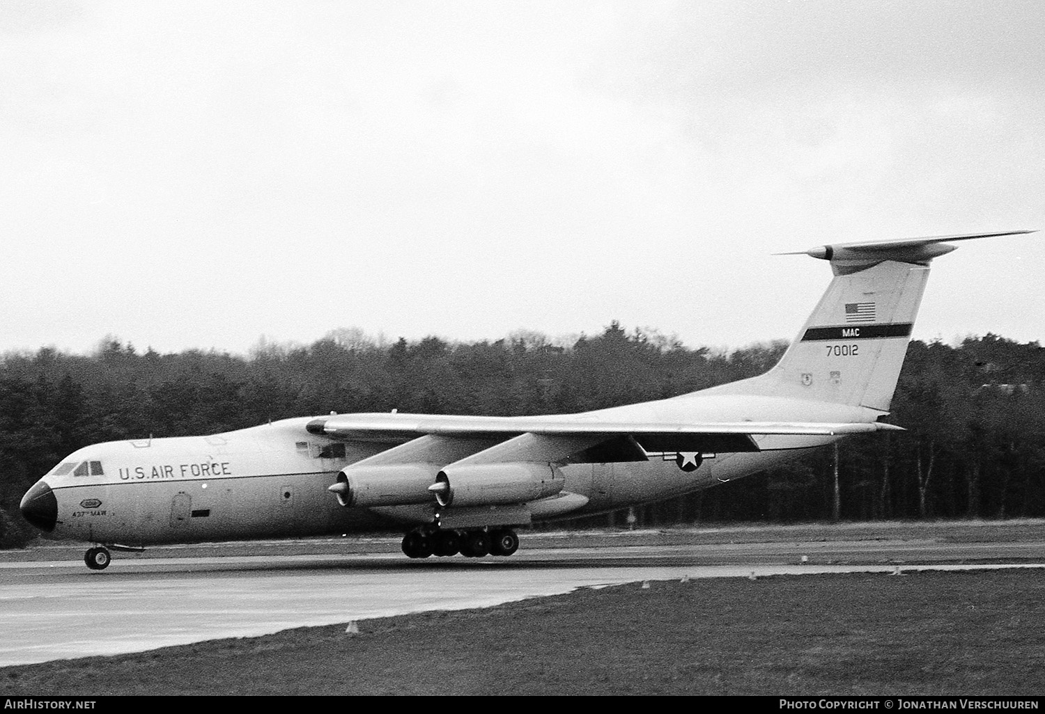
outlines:
[{"label": "T-tail with flag, dark MAC stripe and number 70012", "polygon": [[835,278],[776,366],[718,394],[811,399],[888,411],[929,263],[972,238],[1034,231],[823,245],[798,254],[831,262]]}]

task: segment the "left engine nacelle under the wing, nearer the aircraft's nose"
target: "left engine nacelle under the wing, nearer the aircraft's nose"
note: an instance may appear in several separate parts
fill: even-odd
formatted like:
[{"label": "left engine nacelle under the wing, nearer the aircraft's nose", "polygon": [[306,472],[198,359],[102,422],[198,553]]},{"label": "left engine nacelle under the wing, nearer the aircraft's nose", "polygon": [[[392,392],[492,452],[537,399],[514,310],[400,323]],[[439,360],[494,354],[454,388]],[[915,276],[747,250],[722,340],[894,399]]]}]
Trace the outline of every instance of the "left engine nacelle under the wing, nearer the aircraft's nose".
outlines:
[{"label": "left engine nacelle under the wing, nearer the aircraft's nose", "polygon": [[343,506],[431,503],[428,486],[437,471],[439,467],[433,463],[345,467],[329,490]]}]

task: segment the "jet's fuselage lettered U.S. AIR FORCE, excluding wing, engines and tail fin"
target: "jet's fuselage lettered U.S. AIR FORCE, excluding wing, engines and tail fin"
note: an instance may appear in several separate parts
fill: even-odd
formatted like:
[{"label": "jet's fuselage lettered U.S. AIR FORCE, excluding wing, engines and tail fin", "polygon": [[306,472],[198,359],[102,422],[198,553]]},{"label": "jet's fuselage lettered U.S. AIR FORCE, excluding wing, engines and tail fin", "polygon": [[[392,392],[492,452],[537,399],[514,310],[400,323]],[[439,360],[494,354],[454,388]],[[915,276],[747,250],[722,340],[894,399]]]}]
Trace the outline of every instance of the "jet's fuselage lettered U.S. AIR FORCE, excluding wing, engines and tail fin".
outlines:
[{"label": "jet's fuselage lettered U.S. AIR FORCE, excluding wing, engines and tail fin", "polygon": [[[878,415],[861,407],[712,390],[562,419],[873,422]],[[373,416],[407,422],[412,415]],[[409,530],[433,521],[440,510],[435,503],[341,505],[328,492],[341,469],[395,444],[326,438],[306,430],[312,419],[282,420],[209,436],[85,447],[45,475],[26,494],[22,509],[53,538],[130,546]],[[517,419],[519,431],[525,432],[528,418]],[[760,451],[703,454],[696,470],[688,468],[692,460],[688,463],[686,454],[676,452],[647,452],[648,460],[638,461],[567,461],[560,466],[565,476],[562,494],[521,505],[527,521],[539,521],[655,501],[767,469],[835,438],[763,435],[756,439]],[[454,513],[452,506],[442,510]],[[516,523],[518,513],[513,511]]]}]

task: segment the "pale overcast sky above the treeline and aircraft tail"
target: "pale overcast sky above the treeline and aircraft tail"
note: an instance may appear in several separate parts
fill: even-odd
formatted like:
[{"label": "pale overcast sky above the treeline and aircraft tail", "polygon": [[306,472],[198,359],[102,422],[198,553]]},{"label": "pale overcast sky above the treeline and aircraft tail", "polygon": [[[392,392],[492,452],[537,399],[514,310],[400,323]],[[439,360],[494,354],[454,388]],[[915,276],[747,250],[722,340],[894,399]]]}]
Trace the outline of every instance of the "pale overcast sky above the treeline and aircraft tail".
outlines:
[{"label": "pale overcast sky above the treeline and aircraft tail", "polygon": [[[0,351],[794,336],[829,242],[1045,229],[1045,3],[0,2]],[[1045,232],[914,336],[1045,340]]]}]

